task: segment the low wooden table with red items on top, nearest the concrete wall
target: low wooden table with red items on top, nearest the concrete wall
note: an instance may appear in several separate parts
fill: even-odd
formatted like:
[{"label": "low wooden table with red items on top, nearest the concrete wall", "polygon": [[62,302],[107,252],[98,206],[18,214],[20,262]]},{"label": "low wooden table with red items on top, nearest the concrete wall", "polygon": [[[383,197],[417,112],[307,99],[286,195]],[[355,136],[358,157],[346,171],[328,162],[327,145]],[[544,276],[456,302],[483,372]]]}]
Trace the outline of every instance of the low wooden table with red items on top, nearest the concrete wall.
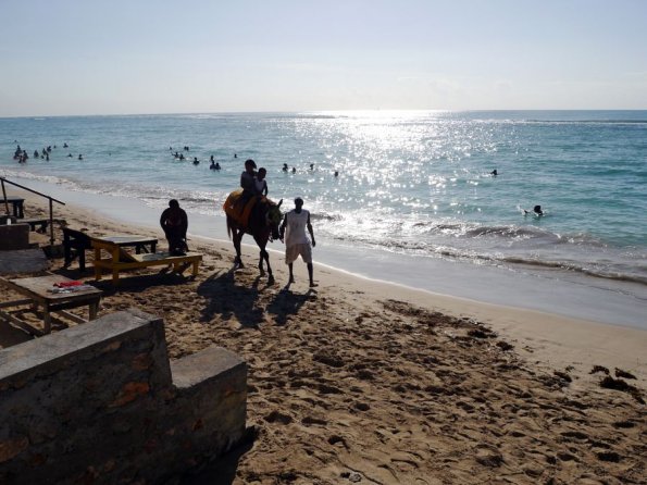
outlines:
[{"label": "low wooden table with red items on top, nearest the concrete wall", "polygon": [[[99,302],[101,301],[101,290],[97,288],[87,288],[84,285],[83,289],[75,289],[70,287],[69,290],[59,290],[55,293],[54,284],[69,284],[74,279],[64,276],[50,274],[46,276],[36,276],[27,278],[3,279],[0,278],[0,285],[13,289],[24,296],[26,299],[7,301],[0,303],[0,319],[12,323],[33,335],[43,335],[51,332],[52,312],[62,314],[69,320],[76,323],[85,323],[86,320],[65,310],[71,308],[78,308],[88,306],[88,320],[95,320],[99,311]],[[21,307],[32,304],[35,313],[42,313],[43,329],[39,329],[28,324],[24,320],[15,316],[17,311],[10,311],[11,307]],[[40,310],[40,312],[38,311]]]}]

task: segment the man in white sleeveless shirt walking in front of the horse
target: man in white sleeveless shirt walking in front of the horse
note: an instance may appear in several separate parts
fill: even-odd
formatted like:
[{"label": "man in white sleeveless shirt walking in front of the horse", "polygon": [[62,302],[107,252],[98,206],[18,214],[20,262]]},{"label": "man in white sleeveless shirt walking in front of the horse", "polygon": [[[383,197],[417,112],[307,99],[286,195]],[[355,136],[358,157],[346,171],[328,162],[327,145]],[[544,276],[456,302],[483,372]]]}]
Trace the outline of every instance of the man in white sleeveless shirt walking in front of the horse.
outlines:
[{"label": "man in white sleeveless shirt walking in front of the horse", "polygon": [[[286,232],[287,228],[287,232]],[[306,228],[310,233],[310,239],[306,235]],[[289,283],[295,283],[293,274],[293,264],[301,256],[303,262],[308,265],[308,275],[310,277],[310,287],[316,286],[312,278],[312,248],[316,246],[312,224],[310,224],[310,212],[303,209],[303,199],[295,199],[295,209],[285,214],[279,228],[281,241],[285,242],[285,262],[289,268]],[[285,240],[284,240],[285,235]],[[311,242],[312,241],[312,246]]]}]

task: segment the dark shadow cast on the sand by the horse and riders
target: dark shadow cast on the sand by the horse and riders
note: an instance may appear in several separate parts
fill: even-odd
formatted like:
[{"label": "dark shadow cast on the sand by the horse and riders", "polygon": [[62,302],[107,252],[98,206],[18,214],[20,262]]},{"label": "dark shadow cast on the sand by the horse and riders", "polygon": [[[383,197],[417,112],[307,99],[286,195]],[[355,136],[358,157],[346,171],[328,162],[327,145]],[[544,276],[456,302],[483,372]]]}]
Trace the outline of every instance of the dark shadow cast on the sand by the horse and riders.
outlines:
[{"label": "dark shadow cast on the sand by the horse and riders", "polygon": [[264,321],[263,309],[256,306],[261,288],[261,277],[245,285],[236,283],[234,269],[217,272],[198,286],[198,295],[207,300],[200,321],[211,322],[215,315],[223,320],[236,318],[245,327],[258,327]]}]

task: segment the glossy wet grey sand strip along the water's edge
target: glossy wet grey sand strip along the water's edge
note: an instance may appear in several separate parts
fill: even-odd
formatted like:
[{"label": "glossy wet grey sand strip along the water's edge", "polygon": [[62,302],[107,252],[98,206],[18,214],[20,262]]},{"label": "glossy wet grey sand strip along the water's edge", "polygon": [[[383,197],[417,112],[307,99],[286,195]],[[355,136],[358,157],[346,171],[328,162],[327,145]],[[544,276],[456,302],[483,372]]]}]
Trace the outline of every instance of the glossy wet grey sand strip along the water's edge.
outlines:
[{"label": "glossy wet grey sand strip along the water's edge", "polygon": [[[87,194],[40,181],[16,179],[60,200],[87,207],[98,214],[133,226],[158,229],[163,207],[152,208],[144,201],[124,197]],[[288,202],[289,204],[289,202]],[[164,206],[165,207],[165,206]],[[54,207],[54,212],[57,207]],[[224,216],[189,212],[189,235],[217,244],[227,240]],[[316,226],[314,227],[316,235]],[[242,245],[249,245],[249,237]],[[357,248],[318,237],[314,262],[348,271],[360,277],[394,283],[432,294],[456,296],[489,304],[557,314],[567,319],[647,331],[647,293],[638,284],[595,279],[592,276],[549,270],[514,271],[498,266],[415,257]],[[252,246],[253,247],[253,242]],[[269,245],[267,250],[281,260],[283,246]],[[642,297],[640,295],[644,295]]]}]

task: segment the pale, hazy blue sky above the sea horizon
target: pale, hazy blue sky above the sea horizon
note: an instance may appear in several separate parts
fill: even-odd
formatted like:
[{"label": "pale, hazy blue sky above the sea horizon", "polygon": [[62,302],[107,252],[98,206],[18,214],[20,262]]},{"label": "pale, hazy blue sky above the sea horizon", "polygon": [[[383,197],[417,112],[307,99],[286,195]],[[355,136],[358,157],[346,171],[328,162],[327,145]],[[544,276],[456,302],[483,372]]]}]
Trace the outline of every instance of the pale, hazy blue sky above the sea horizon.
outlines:
[{"label": "pale, hazy blue sky above the sea horizon", "polygon": [[0,0],[0,116],[647,109],[645,0]]}]

